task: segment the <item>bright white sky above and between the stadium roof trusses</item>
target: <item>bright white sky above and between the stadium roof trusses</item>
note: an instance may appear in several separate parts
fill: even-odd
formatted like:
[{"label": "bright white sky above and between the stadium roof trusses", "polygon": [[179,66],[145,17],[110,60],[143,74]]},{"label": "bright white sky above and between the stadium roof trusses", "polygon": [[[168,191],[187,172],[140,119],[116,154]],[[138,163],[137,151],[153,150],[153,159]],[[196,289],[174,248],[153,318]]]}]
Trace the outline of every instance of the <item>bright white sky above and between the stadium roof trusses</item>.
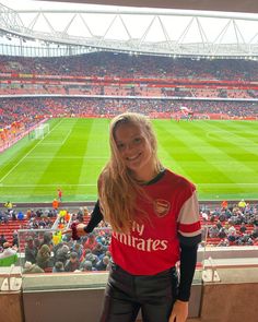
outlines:
[{"label": "bright white sky above and between the stadium roof trusses", "polygon": [[[47,2],[47,1],[27,1],[27,0],[0,0],[0,3],[12,8],[12,9],[20,9],[24,10],[26,8],[28,9],[51,9],[51,10],[59,10],[60,8],[62,10],[85,10],[85,9],[116,9],[118,12],[121,10],[126,10],[129,8],[126,7],[110,7],[110,5],[96,5],[96,4],[77,4],[77,3],[61,3],[60,2]],[[61,5],[61,7],[60,7]],[[131,8],[130,8],[131,9]],[[137,8],[137,11],[145,11],[145,9]],[[150,10],[150,9],[148,9]],[[154,9],[156,11],[157,9]],[[161,9],[160,12],[168,12],[172,10]],[[178,10],[174,10],[174,12],[183,12]],[[171,40],[183,40],[185,43],[200,43],[203,35],[200,34],[200,29],[198,27],[197,20],[194,20],[191,22],[191,13],[196,11],[184,11],[189,12],[189,16],[162,16],[162,23],[165,27],[167,35]],[[209,13],[211,15],[218,14],[218,12],[200,12],[200,13]],[[199,22],[201,23],[201,27],[203,29],[204,38],[208,41],[215,41],[216,43],[223,43],[223,44],[235,44],[237,41],[242,43],[251,43],[251,44],[258,44],[258,14],[244,14],[244,13],[219,13],[221,16],[230,16],[231,14],[234,16],[239,17],[253,17],[255,21],[244,21],[244,20],[237,20],[237,25],[231,21],[228,23],[228,19],[215,19],[215,17],[201,17]],[[46,21],[46,19],[40,15],[36,23],[34,24],[35,14],[21,14],[22,21],[26,27],[32,27],[34,31],[38,32],[49,32],[49,24]],[[63,14],[63,17],[66,19],[57,19],[57,14],[50,14],[47,13],[46,17],[49,20],[51,26],[58,31],[63,32],[66,27],[68,26],[69,21],[73,17],[73,14],[67,13]],[[103,15],[97,14],[82,14],[82,17],[84,22],[86,21],[87,27],[90,31],[94,34],[94,36],[102,37],[105,35],[106,39],[127,39],[129,37],[131,38],[141,38],[144,36],[145,31],[148,29],[148,26],[150,26],[150,23],[152,22],[153,16],[148,15],[122,15],[122,20],[126,24],[126,27],[124,25],[124,22],[116,17],[114,14],[105,15],[105,19],[103,19]],[[115,19],[115,21],[114,21]],[[87,27],[85,27],[85,24],[83,20],[78,15],[72,21],[71,25],[66,29],[68,35],[71,36],[83,36],[83,37],[90,37],[90,32]],[[114,23],[112,24],[112,22]],[[188,24],[191,23],[191,27],[189,31],[184,34],[185,29],[187,28]],[[227,26],[228,23],[228,27]],[[110,26],[112,24],[112,26]],[[226,31],[224,31],[226,28]],[[224,31],[224,32],[223,32]],[[128,35],[128,32],[130,36]],[[144,37],[144,41],[164,41],[165,35],[164,31],[162,28],[162,24],[159,21],[159,19],[155,19],[153,24],[151,25],[148,34]]]}]

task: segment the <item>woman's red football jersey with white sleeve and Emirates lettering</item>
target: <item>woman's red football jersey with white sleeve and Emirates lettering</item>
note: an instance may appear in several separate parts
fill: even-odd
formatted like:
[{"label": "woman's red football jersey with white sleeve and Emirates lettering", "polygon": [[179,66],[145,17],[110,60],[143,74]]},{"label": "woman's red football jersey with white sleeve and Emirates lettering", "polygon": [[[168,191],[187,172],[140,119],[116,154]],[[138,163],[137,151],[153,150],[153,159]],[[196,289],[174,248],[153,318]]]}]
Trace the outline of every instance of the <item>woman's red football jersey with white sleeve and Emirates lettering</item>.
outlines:
[{"label": "woman's red football jersey with white sleeve and Emirates lettering", "polygon": [[162,178],[144,186],[149,200],[138,198],[139,211],[130,234],[113,232],[114,262],[133,275],[154,275],[179,260],[178,232],[200,234],[195,186],[166,169]]}]

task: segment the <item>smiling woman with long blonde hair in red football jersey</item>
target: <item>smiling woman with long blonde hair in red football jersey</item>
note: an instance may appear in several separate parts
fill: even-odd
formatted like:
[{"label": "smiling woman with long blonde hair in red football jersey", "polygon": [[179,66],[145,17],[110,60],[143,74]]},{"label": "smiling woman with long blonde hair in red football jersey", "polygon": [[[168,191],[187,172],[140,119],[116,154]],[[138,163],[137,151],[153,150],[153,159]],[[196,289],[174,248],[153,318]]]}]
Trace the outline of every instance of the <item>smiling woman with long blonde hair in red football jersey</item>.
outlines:
[{"label": "smiling woman with long blonde hair in red football jersey", "polygon": [[87,226],[72,227],[75,238],[92,231],[103,217],[113,227],[114,263],[101,321],[134,321],[141,308],[144,322],[185,322],[201,240],[196,188],[162,166],[144,116],[116,117],[109,135],[99,202]]}]

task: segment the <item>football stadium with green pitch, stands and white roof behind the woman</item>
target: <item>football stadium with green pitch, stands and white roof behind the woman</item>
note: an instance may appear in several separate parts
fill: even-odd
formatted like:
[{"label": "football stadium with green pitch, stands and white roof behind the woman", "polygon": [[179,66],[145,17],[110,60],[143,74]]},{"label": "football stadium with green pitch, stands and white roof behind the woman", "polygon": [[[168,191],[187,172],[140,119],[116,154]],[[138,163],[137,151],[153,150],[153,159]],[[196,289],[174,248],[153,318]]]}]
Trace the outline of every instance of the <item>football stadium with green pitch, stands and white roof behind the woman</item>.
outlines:
[{"label": "football stadium with green pitch, stands and white roof behind the woman", "polygon": [[[258,295],[257,14],[54,2],[0,3],[0,245],[15,250],[0,259],[4,321],[69,321],[64,308],[52,313],[59,300],[97,321],[110,226],[94,230],[99,249],[60,231],[91,220],[110,120],[128,111],[150,118],[164,167],[198,190],[202,242],[187,321],[242,321],[237,296],[247,285]],[[54,246],[42,271],[30,271],[30,240],[38,253]],[[80,264],[62,275],[55,264],[66,251]],[[215,312],[211,300],[219,305],[227,283],[230,310]],[[255,321],[255,300],[243,302]]]}]

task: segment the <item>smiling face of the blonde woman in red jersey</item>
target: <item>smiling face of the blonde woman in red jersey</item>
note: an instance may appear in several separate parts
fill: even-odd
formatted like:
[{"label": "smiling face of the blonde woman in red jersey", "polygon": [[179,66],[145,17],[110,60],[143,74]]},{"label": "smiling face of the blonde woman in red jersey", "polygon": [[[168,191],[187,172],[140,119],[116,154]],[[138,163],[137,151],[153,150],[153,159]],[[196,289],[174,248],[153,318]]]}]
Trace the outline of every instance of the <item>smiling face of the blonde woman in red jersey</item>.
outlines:
[{"label": "smiling face of the blonde woman in red jersey", "polygon": [[115,142],[126,167],[137,180],[153,178],[152,146],[143,131],[132,123],[121,123],[115,130]]}]

